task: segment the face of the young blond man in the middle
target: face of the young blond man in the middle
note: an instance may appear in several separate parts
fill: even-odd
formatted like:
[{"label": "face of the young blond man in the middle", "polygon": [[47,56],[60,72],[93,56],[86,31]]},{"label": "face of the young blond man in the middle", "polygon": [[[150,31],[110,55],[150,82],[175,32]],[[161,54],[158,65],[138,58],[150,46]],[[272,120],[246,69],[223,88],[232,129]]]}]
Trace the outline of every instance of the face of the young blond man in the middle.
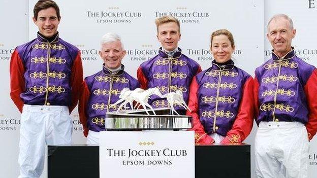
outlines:
[{"label": "face of the young blond man in the middle", "polygon": [[163,23],[158,25],[156,37],[163,49],[173,51],[180,41],[179,28],[175,22]]}]

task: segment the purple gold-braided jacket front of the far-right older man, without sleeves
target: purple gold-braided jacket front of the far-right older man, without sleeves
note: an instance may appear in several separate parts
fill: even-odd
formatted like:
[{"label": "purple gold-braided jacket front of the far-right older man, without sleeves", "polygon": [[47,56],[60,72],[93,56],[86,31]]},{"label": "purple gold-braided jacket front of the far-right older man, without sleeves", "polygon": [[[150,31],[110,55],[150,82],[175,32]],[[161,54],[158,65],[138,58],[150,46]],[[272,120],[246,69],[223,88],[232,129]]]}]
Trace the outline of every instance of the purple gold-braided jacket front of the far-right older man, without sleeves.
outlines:
[{"label": "purple gold-braided jacket front of the far-right older man, without sleeves", "polygon": [[[294,49],[283,59],[272,53],[272,58],[256,69],[256,78],[260,85],[257,123],[274,119],[307,123],[308,108],[304,86],[314,69],[314,66],[297,57]],[[278,76],[280,79],[277,83]]]}]

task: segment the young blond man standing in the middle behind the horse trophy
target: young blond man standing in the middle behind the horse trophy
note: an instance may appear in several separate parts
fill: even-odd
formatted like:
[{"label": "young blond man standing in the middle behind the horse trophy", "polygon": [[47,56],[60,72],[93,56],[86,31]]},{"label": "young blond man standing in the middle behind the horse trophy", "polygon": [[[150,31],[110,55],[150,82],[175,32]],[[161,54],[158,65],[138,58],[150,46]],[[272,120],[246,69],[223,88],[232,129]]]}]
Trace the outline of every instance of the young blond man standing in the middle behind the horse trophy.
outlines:
[{"label": "young blond man standing in the middle behind the horse trophy", "polygon": [[[158,55],[143,62],[138,68],[137,76],[141,88],[157,87],[162,94],[180,90],[187,103],[189,85],[193,77],[201,72],[201,67],[196,61],[182,54],[181,49],[178,48],[180,25],[175,17],[159,17],[155,20],[155,24],[156,37],[162,47],[158,50]],[[169,106],[167,100],[159,96],[151,96],[148,102],[153,108]],[[186,114],[186,110],[179,105],[175,110],[181,115]]]}]

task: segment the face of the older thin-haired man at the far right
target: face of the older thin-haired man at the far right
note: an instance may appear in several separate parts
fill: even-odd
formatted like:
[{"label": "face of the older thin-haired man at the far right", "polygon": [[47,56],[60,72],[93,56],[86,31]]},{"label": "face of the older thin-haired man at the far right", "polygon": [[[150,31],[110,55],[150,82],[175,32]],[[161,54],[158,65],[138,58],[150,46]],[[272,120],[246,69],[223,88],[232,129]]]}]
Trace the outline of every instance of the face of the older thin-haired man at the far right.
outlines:
[{"label": "face of the older thin-haired man at the far right", "polygon": [[270,41],[274,53],[283,57],[292,50],[292,39],[296,30],[290,28],[290,22],[282,17],[274,19],[268,25],[267,38]]}]

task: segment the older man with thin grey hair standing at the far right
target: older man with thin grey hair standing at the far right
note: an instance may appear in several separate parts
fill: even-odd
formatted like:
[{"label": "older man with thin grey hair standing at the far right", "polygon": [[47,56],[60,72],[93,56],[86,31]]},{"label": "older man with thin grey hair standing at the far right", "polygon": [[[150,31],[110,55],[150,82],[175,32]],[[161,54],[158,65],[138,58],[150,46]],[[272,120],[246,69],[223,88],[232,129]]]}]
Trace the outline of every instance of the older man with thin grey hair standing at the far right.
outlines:
[{"label": "older man with thin grey hair standing at the far right", "polygon": [[296,29],[285,14],[267,26],[272,58],[256,69],[253,95],[258,177],[308,176],[308,141],[317,131],[317,69],[295,55]]}]

